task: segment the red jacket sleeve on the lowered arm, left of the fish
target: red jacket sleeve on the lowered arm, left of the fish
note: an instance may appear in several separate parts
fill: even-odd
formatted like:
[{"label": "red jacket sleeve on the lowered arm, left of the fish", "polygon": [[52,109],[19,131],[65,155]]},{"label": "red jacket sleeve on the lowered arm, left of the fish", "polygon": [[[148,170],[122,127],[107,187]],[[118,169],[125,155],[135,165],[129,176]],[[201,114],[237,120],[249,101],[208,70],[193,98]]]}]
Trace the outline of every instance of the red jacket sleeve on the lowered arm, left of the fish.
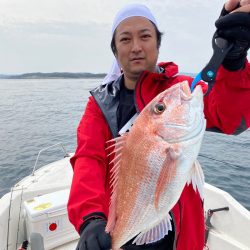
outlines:
[{"label": "red jacket sleeve on the lowered arm, left of the fish", "polygon": [[94,98],[90,97],[78,126],[77,149],[70,160],[74,174],[68,216],[78,232],[86,215],[103,213],[107,216],[105,143],[110,137],[105,118]]}]

